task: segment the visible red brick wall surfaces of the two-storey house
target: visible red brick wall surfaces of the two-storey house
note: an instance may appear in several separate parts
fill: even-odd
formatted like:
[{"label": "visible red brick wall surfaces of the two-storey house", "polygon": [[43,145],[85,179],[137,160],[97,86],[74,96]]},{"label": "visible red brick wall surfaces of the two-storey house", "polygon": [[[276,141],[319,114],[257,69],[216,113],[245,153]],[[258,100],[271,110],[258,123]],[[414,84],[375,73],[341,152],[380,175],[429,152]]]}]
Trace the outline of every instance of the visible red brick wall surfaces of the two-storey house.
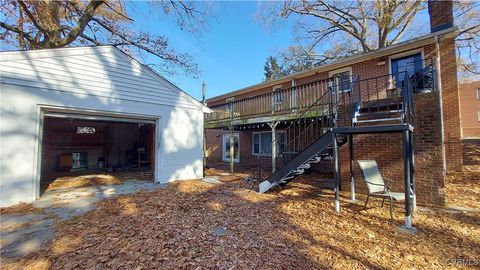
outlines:
[{"label": "visible red brick wall surfaces of the two-storey house", "polygon": [[[458,87],[456,77],[456,59],[453,39],[441,40],[441,77],[443,86],[443,106],[445,124],[445,151],[446,163],[449,169],[461,168],[461,144],[460,144],[460,118]],[[423,47],[424,58],[434,58],[434,45]],[[379,65],[378,63],[385,62]],[[361,78],[370,78],[386,75],[389,72],[389,59],[382,57],[371,59],[352,65],[352,73],[360,74]],[[297,85],[325,79],[328,72],[318,73],[305,78],[297,79]],[[284,87],[290,87],[289,83]],[[271,87],[259,90],[271,91]],[[258,95],[259,92],[253,92]],[[253,93],[245,95],[253,95]],[[442,142],[440,132],[440,109],[438,91],[430,94],[418,94],[414,96],[415,120],[414,120],[414,150],[415,150],[415,177],[417,183],[417,196],[420,204],[444,205],[444,175],[442,159]],[[243,96],[242,96],[243,97]],[[238,97],[242,98],[242,97]],[[266,131],[269,129],[265,127]],[[228,131],[207,131],[207,145],[209,166],[228,164],[222,162],[222,136]],[[251,132],[235,131],[240,134],[240,164],[241,166],[257,166],[258,160],[251,153]],[[218,135],[218,136],[217,136]],[[386,177],[394,179],[394,190],[403,190],[403,147],[400,134],[375,134],[355,136],[355,159],[375,159],[379,163],[382,173]],[[349,166],[348,144],[343,146],[341,154],[342,187],[349,190]],[[262,166],[270,166],[268,157],[262,161]],[[318,167],[318,166],[316,166]],[[324,163],[321,168],[331,169],[331,164]],[[356,185],[362,191],[364,185],[361,182],[358,168],[355,169]]]}]

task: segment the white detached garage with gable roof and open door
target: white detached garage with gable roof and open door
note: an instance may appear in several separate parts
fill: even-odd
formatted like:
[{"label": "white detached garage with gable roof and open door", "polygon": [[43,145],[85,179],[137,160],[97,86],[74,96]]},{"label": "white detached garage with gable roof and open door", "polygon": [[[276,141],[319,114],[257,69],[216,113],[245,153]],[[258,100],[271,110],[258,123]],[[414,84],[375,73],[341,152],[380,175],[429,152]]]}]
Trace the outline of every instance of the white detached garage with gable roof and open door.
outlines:
[{"label": "white detached garage with gable roof and open door", "polygon": [[202,177],[208,108],[119,49],[1,52],[0,72],[0,206],[32,202],[43,174],[63,169]]}]

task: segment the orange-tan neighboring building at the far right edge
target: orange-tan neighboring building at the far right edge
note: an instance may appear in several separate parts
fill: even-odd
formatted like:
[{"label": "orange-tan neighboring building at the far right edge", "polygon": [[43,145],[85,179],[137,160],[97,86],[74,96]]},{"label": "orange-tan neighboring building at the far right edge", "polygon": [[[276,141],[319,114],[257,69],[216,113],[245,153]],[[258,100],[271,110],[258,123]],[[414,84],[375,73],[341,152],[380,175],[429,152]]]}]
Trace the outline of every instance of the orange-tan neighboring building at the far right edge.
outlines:
[{"label": "orange-tan neighboring building at the far right edge", "polygon": [[480,81],[460,83],[458,91],[462,138],[480,139]]}]

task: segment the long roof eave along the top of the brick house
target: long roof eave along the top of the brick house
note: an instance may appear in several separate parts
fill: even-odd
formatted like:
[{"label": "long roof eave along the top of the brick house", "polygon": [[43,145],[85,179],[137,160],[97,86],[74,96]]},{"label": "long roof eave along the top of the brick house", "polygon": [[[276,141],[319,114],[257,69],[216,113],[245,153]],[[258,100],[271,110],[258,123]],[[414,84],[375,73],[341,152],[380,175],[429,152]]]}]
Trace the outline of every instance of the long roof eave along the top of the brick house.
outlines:
[{"label": "long roof eave along the top of the brick house", "polygon": [[310,75],[313,75],[313,74],[316,74],[316,73],[342,68],[342,67],[345,67],[346,65],[351,65],[351,64],[366,61],[366,60],[369,60],[369,59],[386,56],[386,55],[392,54],[396,51],[409,50],[409,49],[414,49],[415,47],[425,46],[425,45],[434,43],[435,42],[435,36],[445,36],[445,35],[450,36],[453,33],[455,33],[456,30],[457,30],[456,27],[447,28],[447,29],[442,30],[442,31],[438,31],[438,32],[427,34],[427,35],[420,36],[420,37],[417,37],[417,38],[409,39],[407,41],[404,41],[404,42],[401,42],[401,43],[398,43],[398,44],[395,44],[395,45],[391,45],[391,46],[384,47],[384,48],[381,48],[381,49],[377,49],[377,50],[374,50],[374,51],[370,51],[370,52],[367,52],[367,53],[356,54],[356,55],[347,57],[347,58],[339,60],[339,61],[335,61],[335,62],[325,64],[325,65],[322,65],[322,66],[319,66],[319,67],[316,67],[316,68],[312,68],[312,69],[309,69],[309,70],[297,72],[297,73],[294,73],[294,74],[291,74],[291,75],[288,75],[288,76],[285,76],[285,77],[278,78],[276,80],[272,80],[272,81],[268,81],[268,82],[262,82],[262,83],[259,83],[259,84],[254,84],[254,85],[251,85],[251,86],[248,86],[248,87],[245,87],[245,88],[241,88],[241,89],[238,89],[238,90],[235,90],[235,91],[232,91],[232,92],[228,92],[228,93],[221,94],[221,95],[218,95],[218,96],[215,96],[215,97],[211,97],[211,98],[207,99],[206,101],[207,101],[207,103],[210,103],[210,102],[213,102],[213,101],[226,99],[226,98],[236,96],[236,95],[239,95],[239,94],[249,93],[249,92],[264,88],[264,87],[271,87],[271,86],[275,86],[275,85],[278,85],[278,84],[281,84],[281,83],[284,83],[284,82],[289,82],[293,79],[303,78],[303,77],[307,77],[307,76],[310,76]]}]

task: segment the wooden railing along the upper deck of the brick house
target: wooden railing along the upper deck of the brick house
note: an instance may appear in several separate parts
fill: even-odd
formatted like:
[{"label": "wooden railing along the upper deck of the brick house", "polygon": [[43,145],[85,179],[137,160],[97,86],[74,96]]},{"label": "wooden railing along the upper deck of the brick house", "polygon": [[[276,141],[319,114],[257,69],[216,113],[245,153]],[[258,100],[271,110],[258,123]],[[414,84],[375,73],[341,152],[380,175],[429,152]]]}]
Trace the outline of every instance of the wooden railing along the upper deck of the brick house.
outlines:
[{"label": "wooden railing along the upper deck of the brick house", "polygon": [[[421,70],[409,72],[410,94],[429,92],[434,89],[433,61],[432,59],[421,59],[421,61],[423,65]],[[415,65],[415,63],[408,65]],[[339,93],[352,91],[352,102],[362,101],[371,104],[377,102],[378,106],[372,106],[372,108],[378,109],[383,101],[397,100],[400,103],[403,98],[402,89],[407,86],[405,72],[370,78],[360,77],[355,88],[351,89],[354,78],[357,78],[357,75],[352,76],[350,82],[344,83],[336,78],[329,78],[213,106],[210,107],[212,113],[206,115],[205,121],[215,122],[283,114],[300,115],[303,110],[325,96],[329,87],[336,89]],[[321,109],[321,106],[318,107]]]}]

